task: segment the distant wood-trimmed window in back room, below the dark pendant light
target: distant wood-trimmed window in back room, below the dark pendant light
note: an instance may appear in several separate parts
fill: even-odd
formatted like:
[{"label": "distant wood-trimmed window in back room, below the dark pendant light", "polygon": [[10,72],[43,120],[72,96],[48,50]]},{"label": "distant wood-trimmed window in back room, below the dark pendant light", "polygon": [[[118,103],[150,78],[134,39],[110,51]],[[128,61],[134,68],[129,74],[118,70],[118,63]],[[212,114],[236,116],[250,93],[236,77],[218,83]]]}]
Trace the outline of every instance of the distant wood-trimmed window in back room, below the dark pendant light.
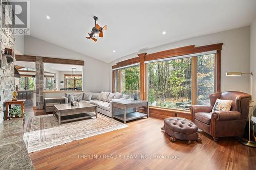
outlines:
[{"label": "distant wood-trimmed window in back room, below the dark pendant light", "polygon": [[82,90],[82,75],[64,75],[65,88]]}]

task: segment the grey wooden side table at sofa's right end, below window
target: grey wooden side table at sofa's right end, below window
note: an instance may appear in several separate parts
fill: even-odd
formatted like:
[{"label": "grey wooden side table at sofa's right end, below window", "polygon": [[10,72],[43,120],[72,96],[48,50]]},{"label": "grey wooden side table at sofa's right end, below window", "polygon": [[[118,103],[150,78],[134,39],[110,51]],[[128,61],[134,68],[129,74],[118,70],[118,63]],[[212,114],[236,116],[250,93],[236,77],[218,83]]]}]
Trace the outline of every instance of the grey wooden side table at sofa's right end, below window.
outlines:
[{"label": "grey wooden side table at sofa's right end, below window", "polygon": [[[145,113],[137,112],[136,108],[145,107]],[[122,109],[123,114],[115,114],[115,108]],[[126,109],[134,108],[133,112],[126,112]],[[112,107],[113,118],[117,118],[119,120],[123,120],[123,123],[126,124],[126,121],[137,119],[140,117],[148,118],[148,101],[141,100],[123,100],[123,101],[115,101],[113,102]]]}]

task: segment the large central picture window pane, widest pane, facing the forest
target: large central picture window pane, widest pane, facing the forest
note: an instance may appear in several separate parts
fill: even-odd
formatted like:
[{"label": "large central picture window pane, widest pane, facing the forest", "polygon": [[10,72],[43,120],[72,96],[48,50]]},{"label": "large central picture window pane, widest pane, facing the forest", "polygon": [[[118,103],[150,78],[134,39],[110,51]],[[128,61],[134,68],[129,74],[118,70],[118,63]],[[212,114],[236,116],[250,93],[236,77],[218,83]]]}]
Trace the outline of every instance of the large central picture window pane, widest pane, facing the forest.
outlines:
[{"label": "large central picture window pane, widest pane, facing the forest", "polygon": [[147,68],[150,105],[187,109],[191,104],[191,58],[149,63]]}]

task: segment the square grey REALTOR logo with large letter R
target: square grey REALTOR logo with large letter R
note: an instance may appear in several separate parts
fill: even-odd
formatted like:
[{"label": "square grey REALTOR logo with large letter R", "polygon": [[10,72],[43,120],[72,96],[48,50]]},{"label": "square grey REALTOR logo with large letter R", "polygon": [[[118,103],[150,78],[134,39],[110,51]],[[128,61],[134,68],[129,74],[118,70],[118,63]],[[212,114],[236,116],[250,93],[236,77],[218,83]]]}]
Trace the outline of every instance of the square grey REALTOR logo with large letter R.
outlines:
[{"label": "square grey REALTOR logo with large letter R", "polygon": [[5,34],[30,35],[30,1],[2,1],[1,31]]}]

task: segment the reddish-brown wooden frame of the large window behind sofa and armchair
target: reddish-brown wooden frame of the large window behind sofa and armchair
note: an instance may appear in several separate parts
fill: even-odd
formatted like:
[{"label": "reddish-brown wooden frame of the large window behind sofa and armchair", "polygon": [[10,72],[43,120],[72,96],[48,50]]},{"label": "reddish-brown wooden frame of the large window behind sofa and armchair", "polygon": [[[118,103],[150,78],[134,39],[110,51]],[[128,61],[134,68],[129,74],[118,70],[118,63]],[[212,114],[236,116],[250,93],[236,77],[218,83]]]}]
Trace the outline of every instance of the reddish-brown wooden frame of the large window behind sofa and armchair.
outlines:
[{"label": "reddish-brown wooden frame of the large window behind sofa and armchair", "polygon": [[[152,61],[170,57],[177,57],[189,54],[197,54],[209,51],[216,51],[215,54],[215,91],[221,91],[221,50],[222,50],[223,43],[211,44],[211,45],[204,45],[204,46],[183,46],[179,48],[174,48],[171,50],[161,51],[152,54],[141,53],[138,54],[138,57],[124,60],[118,62],[116,65],[112,66],[112,69],[140,63],[140,99],[147,100],[147,64],[145,61]],[[196,80],[197,76],[197,60],[196,56],[192,57],[192,62],[194,65],[192,68],[192,78]],[[195,65],[196,64],[196,65]],[[192,104],[197,103],[197,81],[193,81],[192,83]],[[112,71],[112,92],[115,92],[115,70]],[[170,116],[181,116],[185,118],[191,118],[191,113],[186,110],[178,110],[178,109],[170,109],[170,108],[162,108],[162,107],[153,107],[150,106],[150,115],[155,117],[166,118]]]}]

